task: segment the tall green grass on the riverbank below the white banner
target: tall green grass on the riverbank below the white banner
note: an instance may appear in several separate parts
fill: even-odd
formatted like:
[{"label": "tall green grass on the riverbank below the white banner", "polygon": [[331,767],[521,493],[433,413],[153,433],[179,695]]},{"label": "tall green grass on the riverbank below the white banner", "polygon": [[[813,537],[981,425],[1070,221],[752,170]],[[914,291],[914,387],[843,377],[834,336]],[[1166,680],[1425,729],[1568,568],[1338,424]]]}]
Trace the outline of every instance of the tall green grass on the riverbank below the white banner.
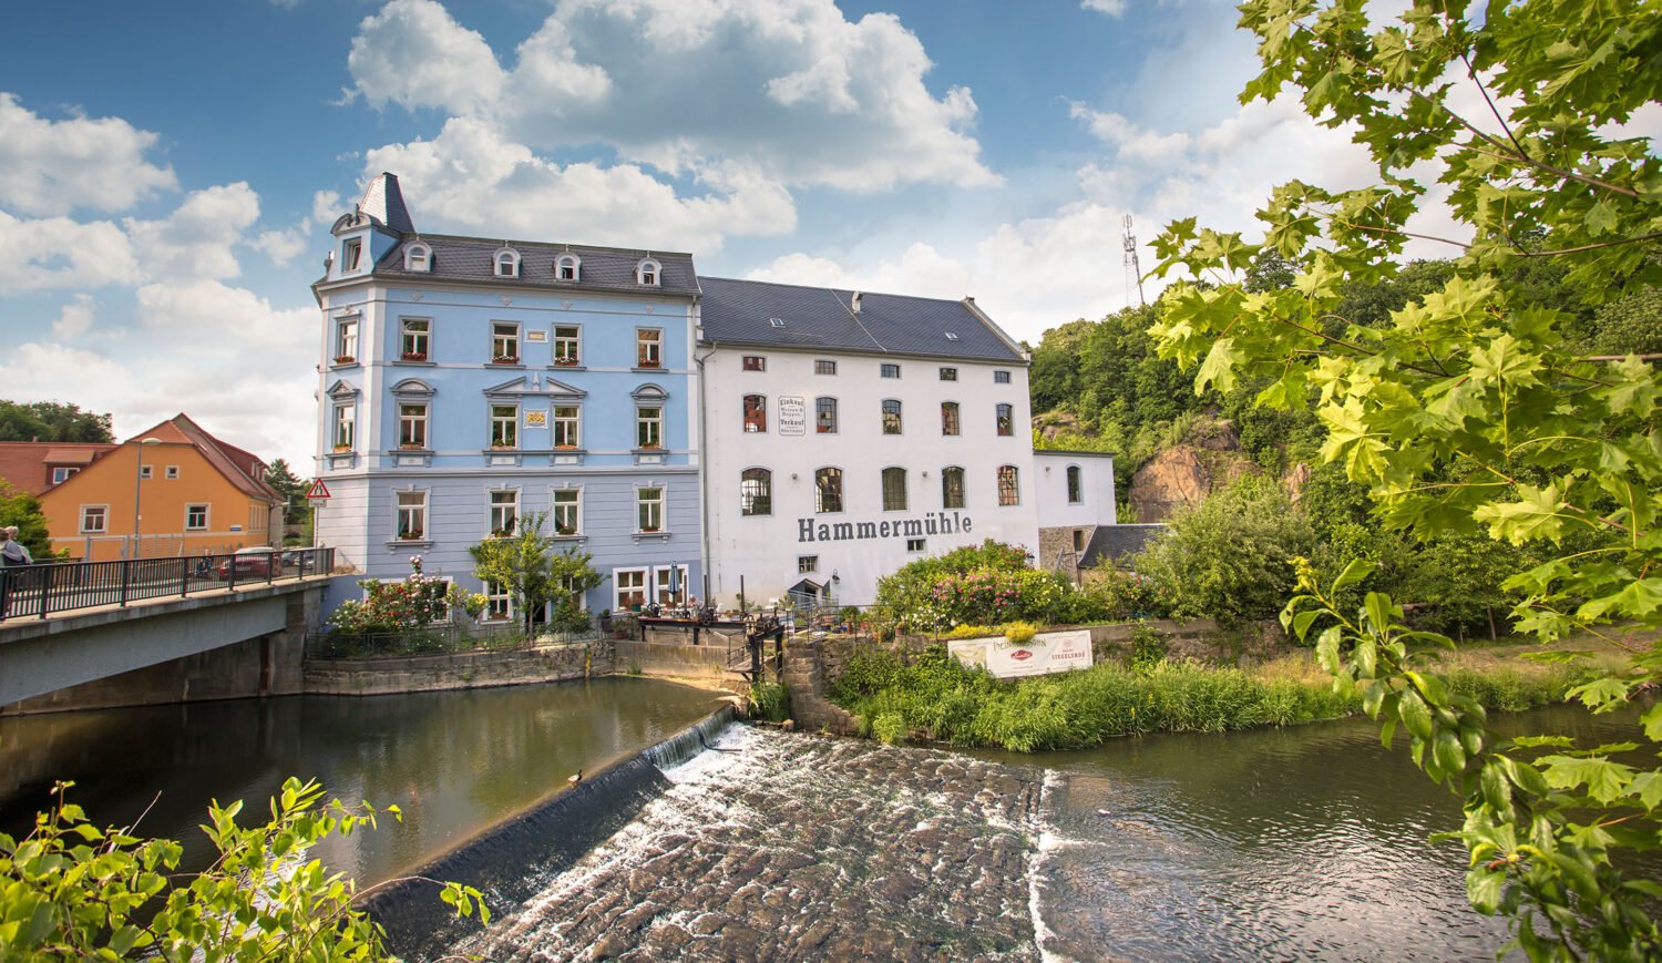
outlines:
[{"label": "tall green grass on the riverbank below the white banner", "polygon": [[[1456,692],[1487,709],[1521,710],[1562,700],[1586,669],[1521,659],[1527,645],[1463,650],[1444,660]],[[1115,735],[1223,732],[1295,725],[1360,712],[1333,692],[1308,652],[1253,669],[1152,660],[1100,662],[1087,670],[999,680],[964,669],[944,645],[909,664],[886,650],[854,655],[831,700],[859,715],[883,742],[931,738],[1015,752],[1089,748]]]}]

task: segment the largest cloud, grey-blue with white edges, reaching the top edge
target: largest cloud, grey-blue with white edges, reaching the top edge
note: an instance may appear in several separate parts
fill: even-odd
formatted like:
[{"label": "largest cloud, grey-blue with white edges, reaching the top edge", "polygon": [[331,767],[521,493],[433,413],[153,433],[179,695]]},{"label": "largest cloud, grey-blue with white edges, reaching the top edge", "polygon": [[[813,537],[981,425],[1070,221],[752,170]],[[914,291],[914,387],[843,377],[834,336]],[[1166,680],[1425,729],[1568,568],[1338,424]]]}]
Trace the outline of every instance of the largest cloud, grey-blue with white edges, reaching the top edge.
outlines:
[{"label": "largest cloud, grey-blue with white edges, reaching the top edge", "polygon": [[532,150],[600,143],[670,173],[738,163],[849,191],[999,183],[971,91],[937,98],[916,35],[833,0],[562,0],[512,70],[434,0],[392,0],[347,65],[369,103],[442,106]]}]

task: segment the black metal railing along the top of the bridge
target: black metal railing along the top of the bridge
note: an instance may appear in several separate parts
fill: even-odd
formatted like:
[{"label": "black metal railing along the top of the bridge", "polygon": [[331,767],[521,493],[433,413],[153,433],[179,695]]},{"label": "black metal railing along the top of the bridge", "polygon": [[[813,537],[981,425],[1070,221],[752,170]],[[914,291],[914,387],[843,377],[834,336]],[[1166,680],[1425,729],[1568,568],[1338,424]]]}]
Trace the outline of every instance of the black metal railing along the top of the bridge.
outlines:
[{"label": "black metal railing along the top of the bridge", "polygon": [[118,562],[0,567],[0,619],[268,585],[334,570],[334,549],[271,549]]}]

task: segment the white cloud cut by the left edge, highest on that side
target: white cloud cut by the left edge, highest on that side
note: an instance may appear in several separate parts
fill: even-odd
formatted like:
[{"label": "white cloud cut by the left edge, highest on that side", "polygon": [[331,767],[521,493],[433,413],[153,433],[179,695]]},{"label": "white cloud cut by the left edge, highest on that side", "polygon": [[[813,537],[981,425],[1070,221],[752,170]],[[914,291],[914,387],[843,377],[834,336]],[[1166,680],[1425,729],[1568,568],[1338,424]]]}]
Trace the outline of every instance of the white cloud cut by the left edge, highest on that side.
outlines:
[{"label": "white cloud cut by the left edge, highest on that side", "polygon": [[155,143],[120,118],[47,120],[0,93],[0,205],[23,215],[126,210],[176,186],[171,166],[145,161]]}]

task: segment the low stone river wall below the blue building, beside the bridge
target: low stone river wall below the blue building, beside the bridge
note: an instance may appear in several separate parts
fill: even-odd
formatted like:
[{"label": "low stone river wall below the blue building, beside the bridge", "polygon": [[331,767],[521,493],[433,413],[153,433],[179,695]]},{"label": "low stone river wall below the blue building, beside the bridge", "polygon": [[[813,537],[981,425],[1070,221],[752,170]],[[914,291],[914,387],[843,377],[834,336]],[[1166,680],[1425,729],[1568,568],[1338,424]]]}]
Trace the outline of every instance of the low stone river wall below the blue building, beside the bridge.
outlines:
[{"label": "low stone river wall below the blue building, beside the bridge", "polygon": [[394,659],[311,659],[306,692],[324,695],[384,695],[527,685],[610,675],[612,642],[545,645],[519,652],[455,652]]}]

